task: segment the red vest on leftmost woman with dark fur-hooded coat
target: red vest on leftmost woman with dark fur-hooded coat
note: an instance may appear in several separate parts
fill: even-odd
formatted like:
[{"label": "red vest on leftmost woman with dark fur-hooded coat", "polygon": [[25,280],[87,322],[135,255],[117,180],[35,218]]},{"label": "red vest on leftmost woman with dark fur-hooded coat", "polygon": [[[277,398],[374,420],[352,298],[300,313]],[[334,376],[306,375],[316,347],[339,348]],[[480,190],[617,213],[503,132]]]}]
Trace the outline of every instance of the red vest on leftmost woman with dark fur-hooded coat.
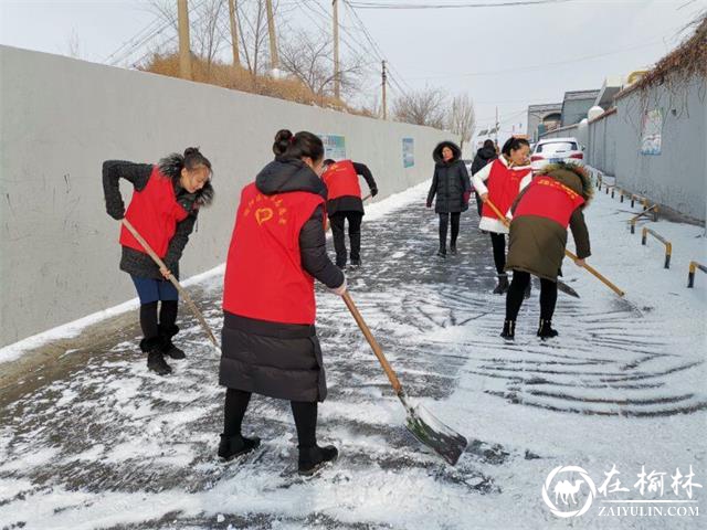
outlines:
[{"label": "red vest on leftmost woman with dark fur-hooded coat", "polygon": [[[159,257],[165,257],[169,242],[177,231],[177,223],[187,219],[187,215],[189,212],[177,202],[171,179],[155,166],[147,186],[141,191],[133,192],[125,219]],[[120,230],[120,244],[147,254],[125,226]]]}]

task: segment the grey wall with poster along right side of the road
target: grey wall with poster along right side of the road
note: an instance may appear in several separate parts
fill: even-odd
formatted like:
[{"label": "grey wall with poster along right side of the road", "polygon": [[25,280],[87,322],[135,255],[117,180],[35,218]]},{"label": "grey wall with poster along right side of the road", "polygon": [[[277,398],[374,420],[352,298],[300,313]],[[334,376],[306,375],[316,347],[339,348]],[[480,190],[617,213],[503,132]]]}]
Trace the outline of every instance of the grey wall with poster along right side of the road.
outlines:
[{"label": "grey wall with poster along right side of the road", "polygon": [[[589,163],[614,174],[621,188],[704,222],[707,80],[677,86],[674,93],[658,86],[620,97],[615,115],[590,124]],[[661,153],[644,155],[643,117],[654,109],[663,116]]]}]

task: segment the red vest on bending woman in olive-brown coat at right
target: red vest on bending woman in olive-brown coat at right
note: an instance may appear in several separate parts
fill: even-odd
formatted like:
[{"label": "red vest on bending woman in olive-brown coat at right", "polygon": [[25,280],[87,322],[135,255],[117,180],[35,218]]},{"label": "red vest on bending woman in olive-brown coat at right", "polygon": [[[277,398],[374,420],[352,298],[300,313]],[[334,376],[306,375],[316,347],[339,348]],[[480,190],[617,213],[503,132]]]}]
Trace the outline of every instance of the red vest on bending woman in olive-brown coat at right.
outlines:
[{"label": "red vest on bending woman in olive-brown coat at right", "polygon": [[584,204],[582,195],[550,177],[538,177],[523,194],[514,219],[538,215],[555,221],[567,230],[572,212]]}]

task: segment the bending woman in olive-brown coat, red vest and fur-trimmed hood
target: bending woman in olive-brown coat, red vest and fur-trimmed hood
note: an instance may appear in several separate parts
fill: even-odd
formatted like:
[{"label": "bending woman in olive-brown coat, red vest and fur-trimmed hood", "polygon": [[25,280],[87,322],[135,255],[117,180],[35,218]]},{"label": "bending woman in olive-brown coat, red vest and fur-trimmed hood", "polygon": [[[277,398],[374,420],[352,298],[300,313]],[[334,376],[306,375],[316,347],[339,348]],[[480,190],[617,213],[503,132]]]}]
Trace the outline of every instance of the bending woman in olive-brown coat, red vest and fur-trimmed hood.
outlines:
[{"label": "bending woman in olive-brown coat, red vest and fur-trimmed hood", "polygon": [[530,275],[540,278],[540,325],[538,337],[557,337],[552,315],[557,301],[557,277],[567,246],[567,229],[577,245],[576,262],[584,265],[590,256],[589,232],[583,210],[593,193],[589,174],[574,163],[551,163],[541,169],[511,206],[513,221],[506,271],[513,282],[506,298],[506,321],[500,336],[513,340],[516,317]]}]

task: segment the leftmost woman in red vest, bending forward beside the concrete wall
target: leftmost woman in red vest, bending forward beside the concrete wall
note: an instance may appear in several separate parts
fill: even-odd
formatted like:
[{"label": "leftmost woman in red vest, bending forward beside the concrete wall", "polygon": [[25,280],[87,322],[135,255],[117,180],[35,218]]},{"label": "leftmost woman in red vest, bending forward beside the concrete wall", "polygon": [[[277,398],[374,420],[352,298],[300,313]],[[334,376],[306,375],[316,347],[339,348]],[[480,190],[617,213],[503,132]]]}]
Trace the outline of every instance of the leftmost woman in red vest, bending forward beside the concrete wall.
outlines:
[{"label": "leftmost woman in red vest, bending forward beside the concrete wall", "polygon": [[[119,180],[134,188],[127,212],[120,197]],[[172,343],[177,335],[177,289],[166,278],[170,272],[179,278],[179,259],[194,227],[199,208],[211,203],[211,162],[196,147],[183,156],[172,153],[159,165],[107,160],[103,163],[103,190],[106,210],[115,220],[124,216],[162,258],[161,269],[143,245],[123,226],[120,269],[133,278],[140,298],[140,349],[147,353],[147,368],[160,375],[171,372],[165,356],[183,359],[184,352]],[[158,322],[158,303],[159,308]]]}]

